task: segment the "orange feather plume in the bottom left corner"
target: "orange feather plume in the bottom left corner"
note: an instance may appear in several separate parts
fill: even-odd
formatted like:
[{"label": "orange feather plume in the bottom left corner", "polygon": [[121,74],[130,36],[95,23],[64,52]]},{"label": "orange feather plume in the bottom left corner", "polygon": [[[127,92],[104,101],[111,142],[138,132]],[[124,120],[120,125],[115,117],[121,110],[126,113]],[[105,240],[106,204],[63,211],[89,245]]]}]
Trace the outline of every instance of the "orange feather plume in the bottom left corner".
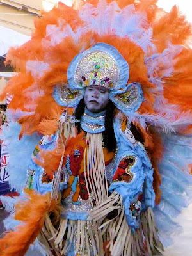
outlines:
[{"label": "orange feather plume in the bottom left corner", "polygon": [[25,193],[28,200],[20,200],[15,205],[15,220],[24,223],[17,226],[15,231],[5,233],[3,239],[0,240],[0,255],[2,256],[24,255],[29,245],[40,233],[44,225],[45,214],[55,207],[54,202],[50,205],[50,193],[41,195],[27,189]]}]

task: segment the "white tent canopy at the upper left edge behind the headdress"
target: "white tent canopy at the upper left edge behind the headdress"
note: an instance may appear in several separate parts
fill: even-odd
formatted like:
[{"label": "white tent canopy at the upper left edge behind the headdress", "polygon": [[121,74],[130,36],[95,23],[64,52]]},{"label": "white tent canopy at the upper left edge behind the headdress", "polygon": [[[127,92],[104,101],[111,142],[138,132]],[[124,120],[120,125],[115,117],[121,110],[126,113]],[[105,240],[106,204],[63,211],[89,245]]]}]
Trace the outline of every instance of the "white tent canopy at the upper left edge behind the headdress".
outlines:
[{"label": "white tent canopy at the upper left edge behind the headdress", "polygon": [[20,46],[30,40],[31,36],[23,35],[12,29],[0,26],[0,56],[3,56],[8,52],[11,46]]}]

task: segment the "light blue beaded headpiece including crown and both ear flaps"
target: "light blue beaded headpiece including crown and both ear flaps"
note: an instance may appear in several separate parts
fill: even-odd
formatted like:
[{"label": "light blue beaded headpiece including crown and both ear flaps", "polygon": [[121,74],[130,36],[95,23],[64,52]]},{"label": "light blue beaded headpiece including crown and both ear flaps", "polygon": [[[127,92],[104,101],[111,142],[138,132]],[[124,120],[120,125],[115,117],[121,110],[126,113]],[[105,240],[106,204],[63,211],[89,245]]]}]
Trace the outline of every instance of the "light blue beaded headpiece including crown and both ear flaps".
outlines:
[{"label": "light blue beaded headpiece including crown and both ear flaps", "polygon": [[74,107],[84,96],[86,86],[104,86],[116,108],[134,113],[143,101],[139,83],[128,84],[129,65],[115,47],[98,43],[77,54],[67,70],[67,86],[54,86],[53,97],[60,106]]}]

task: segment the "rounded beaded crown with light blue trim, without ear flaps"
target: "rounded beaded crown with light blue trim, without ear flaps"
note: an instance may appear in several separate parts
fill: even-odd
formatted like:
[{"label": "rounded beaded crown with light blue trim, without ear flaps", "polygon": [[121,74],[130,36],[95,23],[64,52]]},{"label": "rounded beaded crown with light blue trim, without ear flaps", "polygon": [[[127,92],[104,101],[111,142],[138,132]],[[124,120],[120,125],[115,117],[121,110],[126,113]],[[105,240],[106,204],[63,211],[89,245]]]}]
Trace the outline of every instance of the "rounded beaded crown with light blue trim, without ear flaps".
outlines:
[{"label": "rounded beaded crown with light blue trim, without ear flaps", "polygon": [[115,47],[98,43],[77,54],[67,70],[68,87],[81,89],[90,85],[110,90],[125,90],[129,79],[129,65]]}]

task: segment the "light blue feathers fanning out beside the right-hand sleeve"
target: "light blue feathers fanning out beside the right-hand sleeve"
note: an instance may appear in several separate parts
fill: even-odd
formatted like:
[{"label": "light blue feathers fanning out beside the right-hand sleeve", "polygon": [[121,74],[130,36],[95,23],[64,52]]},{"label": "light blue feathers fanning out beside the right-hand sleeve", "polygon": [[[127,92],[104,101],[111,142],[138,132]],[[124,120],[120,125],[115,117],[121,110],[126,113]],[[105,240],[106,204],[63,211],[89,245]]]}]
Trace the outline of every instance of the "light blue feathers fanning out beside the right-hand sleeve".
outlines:
[{"label": "light blue feathers fanning out beside the right-hand sleeve", "polygon": [[182,228],[173,221],[192,199],[192,176],[188,164],[192,159],[192,136],[163,134],[164,157],[159,164],[162,175],[162,200],[154,209],[159,236],[164,246],[172,244],[173,235]]}]

